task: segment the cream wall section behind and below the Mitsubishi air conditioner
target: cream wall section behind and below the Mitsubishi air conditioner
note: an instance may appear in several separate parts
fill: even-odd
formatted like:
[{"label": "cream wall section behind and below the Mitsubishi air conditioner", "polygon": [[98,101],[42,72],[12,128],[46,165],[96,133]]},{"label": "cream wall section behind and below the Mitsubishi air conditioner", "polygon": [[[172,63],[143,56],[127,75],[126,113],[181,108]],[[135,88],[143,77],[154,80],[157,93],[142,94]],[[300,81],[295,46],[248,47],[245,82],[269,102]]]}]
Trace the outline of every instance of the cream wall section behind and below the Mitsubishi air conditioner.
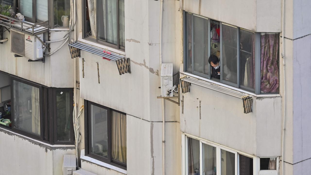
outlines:
[{"label": "cream wall section behind and below the Mitsubishi air conditioner", "polygon": [[[68,31],[51,31],[51,40],[59,40]],[[46,34],[44,34],[46,35]],[[73,60],[65,44],[55,54],[45,58],[45,63],[28,62],[24,57],[14,57],[11,53],[10,33],[4,32],[3,38],[7,42],[0,45],[0,71],[16,75],[21,78],[48,87],[73,87]],[[62,42],[52,43],[51,51],[56,50]]]}]

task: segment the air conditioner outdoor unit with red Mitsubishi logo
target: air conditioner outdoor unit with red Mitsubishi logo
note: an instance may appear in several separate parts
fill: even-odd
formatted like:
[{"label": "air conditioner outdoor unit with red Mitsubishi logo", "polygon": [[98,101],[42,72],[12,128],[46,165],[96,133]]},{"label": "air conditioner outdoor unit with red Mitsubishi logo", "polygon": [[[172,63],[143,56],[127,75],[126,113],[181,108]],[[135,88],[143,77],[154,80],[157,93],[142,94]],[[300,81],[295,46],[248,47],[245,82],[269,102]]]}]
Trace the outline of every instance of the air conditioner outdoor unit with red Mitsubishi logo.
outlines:
[{"label": "air conditioner outdoor unit with red Mitsubishi logo", "polygon": [[[43,34],[36,36],[43,40]],[[31,60],[43,58],[42,43],[36,36],[11,29],[11,52]]]}]

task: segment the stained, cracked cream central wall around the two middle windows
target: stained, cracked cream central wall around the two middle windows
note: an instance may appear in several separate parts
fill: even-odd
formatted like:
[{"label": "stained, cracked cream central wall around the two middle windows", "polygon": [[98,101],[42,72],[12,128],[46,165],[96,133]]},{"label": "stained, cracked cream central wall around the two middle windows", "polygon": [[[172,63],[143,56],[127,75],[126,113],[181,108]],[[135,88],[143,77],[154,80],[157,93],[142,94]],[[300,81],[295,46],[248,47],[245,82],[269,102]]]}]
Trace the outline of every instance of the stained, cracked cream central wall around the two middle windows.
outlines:
[{"label": "stained, cracked cream central wall around the two middle windows", "polygon": [[[80,3],[78,7],[81,7]],[[155,175],[162,172],[162,104],[161,99],[156,98],[161,95],[158,88],[160,86],[160,1],[125,1],[124,7],[125,52],[111,48],[108,50],[125,54],[131,59],[131,74],[120,76],[114,61],[107,61],[100,56],[81,51],[77,73],[80,81],[80,104],[86,99],[125,112],[127,114],[127,174]],[[179,1],[165,1],[163,63],[174,63],[174,73],[179,71],[181,60],[181,19]],[[82,32],[81,26],[78,26],[79,32]],[[86,42],[81,39],[80,41]],[[104,45],[88,44],[106,48]],[[84,78],[82,58],[85,60]],[[98,83],[97,62],[100,83]],[[84,125],[82,118],[85,116],[81,115],[81,126]],[[165,101],[165,121],[165,171],[167,174],[179,175],[181,132],[178,105]],[[81,130],[81,134],[84,138],[84,130]],[[83,139],[81,141],[84,142]],[[83,148],[84,143],[79,144],[79,149]],[[81,163],[81,168],[99,174],[110,172],[106,168],[84,161]]]}]

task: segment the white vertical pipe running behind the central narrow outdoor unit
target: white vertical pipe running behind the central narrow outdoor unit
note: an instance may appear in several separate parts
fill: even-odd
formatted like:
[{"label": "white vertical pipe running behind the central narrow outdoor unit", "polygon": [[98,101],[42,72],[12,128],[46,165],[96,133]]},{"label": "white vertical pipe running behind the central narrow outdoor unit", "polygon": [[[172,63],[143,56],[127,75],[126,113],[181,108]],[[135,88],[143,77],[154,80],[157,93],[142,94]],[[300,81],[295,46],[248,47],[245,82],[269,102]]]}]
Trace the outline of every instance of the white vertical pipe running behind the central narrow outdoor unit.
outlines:
[{"label": "white vertical pipe running behind the central narrow outdoor unit", "polygon": [[[162,66],[162,21],[163,21],[163,0],[160,7],[160,74]],[[164,98],[162,98],[162,174],[165,175],[165,108]]]}]

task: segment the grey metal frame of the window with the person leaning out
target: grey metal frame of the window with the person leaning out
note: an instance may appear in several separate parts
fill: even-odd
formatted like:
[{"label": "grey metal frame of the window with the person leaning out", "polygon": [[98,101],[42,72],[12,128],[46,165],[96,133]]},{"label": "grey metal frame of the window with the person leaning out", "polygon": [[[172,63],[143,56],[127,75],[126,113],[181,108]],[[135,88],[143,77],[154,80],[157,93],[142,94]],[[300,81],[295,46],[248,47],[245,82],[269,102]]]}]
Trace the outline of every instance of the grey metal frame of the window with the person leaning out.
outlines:
[{"label": "grey metal frame of the window with the person leaning out", "polygon": [[[192,67],[191,67],[191,70],[188,69],[187,67],[187,64],[188,64],[188,50],[187,50],[187,44],[188,44],[188,36],[186,35],[187,33],[187,19],[186,19],[186,13],[190,14],[191,17],[192,17],[192,27],[191,27],[191,35],[192,35],[192,58],[191,58],[191,64],[192,64]],[[236,87],[236,88],[239,88],[239,89],[243,89],[243,90],[246,90],[248,92],[252,92],[252,93],[255,93],[255,94],[279,94],[280,92],[278,93],[262,93],[261,92],[261,85],[260,85],[260,75],[261,75],[261,49],[260,49],[260,46],[261,46],[261,39],[260,39],[260,35],[261,35],[261,32],[253,32],[253,31],[249,31],[247,29],[244,29],[242,27],[238,27],[238,26],[233,26],[233,25],[230,25],[230,24],[227,24],[227,23],[223,23],[221,21],[217,21],[219,22],[219,25],[220,25],[220,79],[216,79],[216,78],[213,78],[211,77],[211,65],[208,63],[208,75],[207,74],[203,74],[203,73],[199,73],[197,71],[194,71],[194,57],[193,57],[193,42],[194,42],[194,38],[193,38],[193,32],[194,32],[194,22],[193,22],[193,18],[194,16],[196,17],[201,17],[201,18],[204,18],[206,20],[208,20],[208,30],[210,31],[211,30],[211,21],[215,21],[211,18],[207,18],[207,17],[203,17],[203,16],[199,16],[197,14],[194,14],[192,12],[187,12],[187,11],[183,11],[183,70],[185,72],[188,72],[188,73],[191,73],[191,74],[194,74],[194,75],[197,75],[197,76],[200,76],[200,77],[203,77],[203,78],[207,78],[207,79],[211,79],[213,81],[216,81],[216,82],[220,82],[220,83],[223,83],[225,85],[229,85],[229,86],[232,86],[232,87]],[[237,28],[237,83],[233,83],[233,82],[230,82],[228,80],[225,80],[223,79],[223,35],[222,35],[222,27],[223,25],[226,25],[226,26],[230,26],[230,27],[234,27],[234,28]],[[243,85],[240,84],[240,31],[241,30],[245,30],[245,31],[249,31],[249,32],[253,32],[254,33],[254,57],[255,57],[255,61],[254,61],[254,81],[255,81],[255,84],[254,84],[254,89],[250,88],[250,87],[245,87]],[[189,32],[189,31],[188,31]],[[208,32],[208,57],[211,55],[211,32]],[[278,53],[280,52],[280,50],[278,50]],[[280,58],[278,58],[280,59]],[[280,63],[279,63],[280,64]],[[279,71],[279,77],[280,77],[280,71]],[[279,88],[280,88],[280,84],[279,84]]]}]

